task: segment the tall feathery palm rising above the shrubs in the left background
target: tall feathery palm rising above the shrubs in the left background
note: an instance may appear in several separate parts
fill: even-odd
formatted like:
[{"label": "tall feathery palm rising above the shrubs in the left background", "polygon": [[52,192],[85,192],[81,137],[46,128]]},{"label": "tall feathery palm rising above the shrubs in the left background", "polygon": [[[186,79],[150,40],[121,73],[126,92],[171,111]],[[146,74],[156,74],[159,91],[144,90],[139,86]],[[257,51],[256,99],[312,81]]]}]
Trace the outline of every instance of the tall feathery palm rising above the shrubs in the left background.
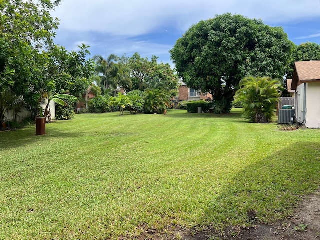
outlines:
[{"label": "tall feathery palm rising above the shrubs in the left background", "polygon": [[112,78],[114,78],[118,72],[118,67],[115,64],[118,57],[114,54],[110,54],[107,59],[104,59],[101,55],[93,56],[93,60],[96,64],[95,71],[101,75],[101,85],[105,90],[109,89],[112,84]]}]

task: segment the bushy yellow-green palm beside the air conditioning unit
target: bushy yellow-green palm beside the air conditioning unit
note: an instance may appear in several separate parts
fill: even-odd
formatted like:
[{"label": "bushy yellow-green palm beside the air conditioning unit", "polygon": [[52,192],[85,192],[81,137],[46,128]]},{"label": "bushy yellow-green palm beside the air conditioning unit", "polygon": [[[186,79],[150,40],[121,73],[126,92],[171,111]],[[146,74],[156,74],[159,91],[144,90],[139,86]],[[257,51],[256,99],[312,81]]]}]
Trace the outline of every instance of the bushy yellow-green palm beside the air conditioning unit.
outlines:
[{"label": "bushy yellow-green palm beside the air conditioning unit", "polygon": [[247,76],[240,81],[235,97],[243,103],[245,118],[250,122],[267,123],[274,115],[282,89],[279,79]]}]

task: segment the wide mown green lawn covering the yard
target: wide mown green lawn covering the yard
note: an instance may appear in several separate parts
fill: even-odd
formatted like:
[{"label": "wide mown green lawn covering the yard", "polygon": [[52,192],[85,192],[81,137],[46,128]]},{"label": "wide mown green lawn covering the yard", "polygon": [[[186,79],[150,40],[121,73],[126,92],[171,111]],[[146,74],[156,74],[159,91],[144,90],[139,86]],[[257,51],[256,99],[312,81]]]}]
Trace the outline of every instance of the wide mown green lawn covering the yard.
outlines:
[{"label": "wide mown green lawn covering the yard", "polygon": [[227,115],[79,114],[0,132],[0,239],[272,222],[320,184],[320,131]]}]

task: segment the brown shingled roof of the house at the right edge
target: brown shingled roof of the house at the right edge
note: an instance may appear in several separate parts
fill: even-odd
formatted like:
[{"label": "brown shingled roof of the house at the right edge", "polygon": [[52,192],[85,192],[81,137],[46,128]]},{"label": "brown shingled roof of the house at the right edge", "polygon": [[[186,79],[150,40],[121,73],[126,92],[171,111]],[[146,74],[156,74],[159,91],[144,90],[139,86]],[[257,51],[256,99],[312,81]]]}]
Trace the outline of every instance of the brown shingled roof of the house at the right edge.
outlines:
[{"label": "brown shingled roof of the house at the right edge", "polygon": [[291,90],[304,82],[320,82],[319,60],[294,62]]}]

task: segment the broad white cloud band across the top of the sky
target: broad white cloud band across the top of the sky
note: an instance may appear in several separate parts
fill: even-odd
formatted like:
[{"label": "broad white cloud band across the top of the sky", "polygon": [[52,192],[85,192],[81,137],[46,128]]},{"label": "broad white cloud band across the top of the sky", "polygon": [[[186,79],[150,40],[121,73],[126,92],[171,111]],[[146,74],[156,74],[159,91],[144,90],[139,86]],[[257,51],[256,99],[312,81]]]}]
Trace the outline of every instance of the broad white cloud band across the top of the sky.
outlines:
[{"label": "broad white cloud band across the top of the sky", "polygon": [[320,16],[318,0],[62,0],[60,28],[137,36],[172,25],[185,31],[199,20],[231,12],[278,24]]}]

